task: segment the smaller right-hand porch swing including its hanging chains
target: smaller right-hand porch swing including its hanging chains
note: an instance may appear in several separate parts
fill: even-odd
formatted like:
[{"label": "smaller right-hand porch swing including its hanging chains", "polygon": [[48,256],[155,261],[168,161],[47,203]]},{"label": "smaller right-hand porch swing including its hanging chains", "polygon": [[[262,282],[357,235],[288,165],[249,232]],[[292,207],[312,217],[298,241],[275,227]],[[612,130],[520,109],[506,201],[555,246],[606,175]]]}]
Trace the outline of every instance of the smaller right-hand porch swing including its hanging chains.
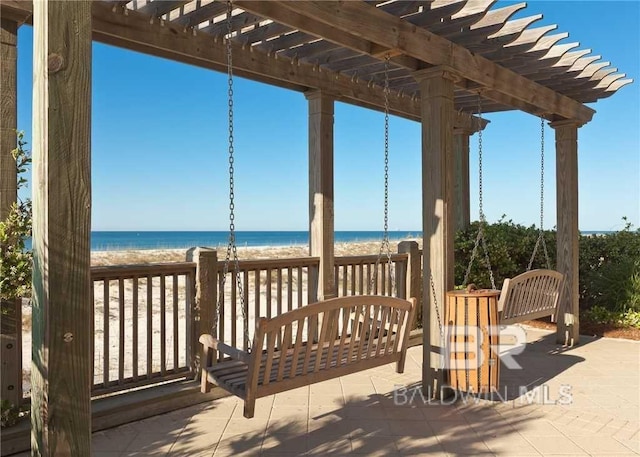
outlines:
[{"label": "smaller right-hand porch swing including its hanging chains", "polygon": [[[482,102],[478,94],[478,117],[482,119]],[[478,131],[478,175],[479,175],[479,225],[471,259],[465,272],[463,286],[467,291],[475,288],[475,285],[468,284],[471,267],[481,246],[484,252],[484,261],[489,271],[491,287],[497,290],[493,270],[489,260],[489,251],[484,235],[484,228],[487,224],[482,201],[482,130]],[[546,268],[532,269],[533,262],[542,247]],[[551,316],[552,320],[558,317],[558,302],[564,284],[564,275],[551,268],[551,261],[544,239],[544,117],[540,117],[540,229],[538,238],[531,253],[529,265],[524,273],[513,278],[506,278],[502,285],[500,298],[498,300],[498,315],[500,324],[514,324],[527,320],[538,319]]]}]

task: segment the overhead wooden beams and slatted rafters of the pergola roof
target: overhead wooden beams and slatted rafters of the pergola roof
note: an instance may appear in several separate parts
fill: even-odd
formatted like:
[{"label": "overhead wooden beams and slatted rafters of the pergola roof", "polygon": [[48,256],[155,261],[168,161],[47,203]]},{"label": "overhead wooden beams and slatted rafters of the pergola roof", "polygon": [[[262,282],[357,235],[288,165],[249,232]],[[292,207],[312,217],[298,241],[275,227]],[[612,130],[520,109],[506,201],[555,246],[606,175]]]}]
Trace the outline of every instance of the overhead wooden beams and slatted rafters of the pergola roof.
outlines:
[{"label": "overhead wooden beams and slatted rafters of the pergola roof", "polygon": [[[549,119],[586,122],[593,111],[582,103],[610,96],[630,82],[614,70],[600,71],[609,64],[589,56],[589,50],[563,43],[568,34],[550,34],[556,25],[529,28],[541,15],[512,20],[524,3],[495,3],[235,0],[231,28],[238,48],[236,72],[294,90],[335,90],[346,102],[380,109],[384,57],[389,53],[394,113],[412,119],[419,117],[419,89],[412,74],[432,65],[444,65],[458,75],[454,104],[469,113],[475,112],[481,92],[486,112],[516,108]],[[3,14],[25,17],[30,5],[3,0]],[[118,14],[135,17],[133,30],[114,24],[121,19]],[[225,14],[226,3],[219,0],[106,0],[94,5],[99,25],[94,35],[224,70],[218,55],[227,34]]]}]

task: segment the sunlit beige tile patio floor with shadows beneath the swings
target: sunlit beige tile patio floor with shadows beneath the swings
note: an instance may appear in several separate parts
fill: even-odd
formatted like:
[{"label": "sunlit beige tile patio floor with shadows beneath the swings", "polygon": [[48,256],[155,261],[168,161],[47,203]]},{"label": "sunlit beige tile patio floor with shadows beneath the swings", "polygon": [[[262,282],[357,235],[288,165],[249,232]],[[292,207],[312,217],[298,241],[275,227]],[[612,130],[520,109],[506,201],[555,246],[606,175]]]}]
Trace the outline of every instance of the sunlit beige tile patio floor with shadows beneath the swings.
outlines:
[{"label": "sunlit beige tile patio floor with shadows beneath the swings", "polygon": [[[414,347],[402,375],[389,365],[263,398],[251,420],[242,417],[242,403],[228,397],[97,432],[93,452],[103,457],[640,455],[640,343],[585,337],[580,346],[566,349],[554,336],[527,329],[529,343],[515,357],[523,369],[501,368],[504,402],[473,397],[437,405],[417,394],[407,404],[394,404],[398,385],[420,382],[422,348]],[[518,396],[518,386],[538,386],[541,394],[530,394],[528,402]],[[570,404],[554,403],[569,396]],[[396,396],[400,402],[405,398]]]}]

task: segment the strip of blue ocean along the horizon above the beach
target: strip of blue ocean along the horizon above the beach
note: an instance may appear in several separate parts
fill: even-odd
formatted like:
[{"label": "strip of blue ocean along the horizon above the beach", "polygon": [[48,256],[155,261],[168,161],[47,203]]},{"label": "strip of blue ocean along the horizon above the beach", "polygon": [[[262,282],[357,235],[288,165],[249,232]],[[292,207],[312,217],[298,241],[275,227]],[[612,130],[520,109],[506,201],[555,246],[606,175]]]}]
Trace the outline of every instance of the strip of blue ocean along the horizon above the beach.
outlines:
[{"label": "strip of blue ocean along the horizon above the beach", "polygon": [[[398,241],[421,237],[421,231],[389,232],[389,239]],[[376,241],[381,231],[336,231],[335,242]],[[91,232],[91,250],[113,251],[124,249],[186,249],[194,246],[226,246],[229,233],[220,232]],[[295,246],[309,244],[306,231],[242,231],[236,232],[238,246]]]}]

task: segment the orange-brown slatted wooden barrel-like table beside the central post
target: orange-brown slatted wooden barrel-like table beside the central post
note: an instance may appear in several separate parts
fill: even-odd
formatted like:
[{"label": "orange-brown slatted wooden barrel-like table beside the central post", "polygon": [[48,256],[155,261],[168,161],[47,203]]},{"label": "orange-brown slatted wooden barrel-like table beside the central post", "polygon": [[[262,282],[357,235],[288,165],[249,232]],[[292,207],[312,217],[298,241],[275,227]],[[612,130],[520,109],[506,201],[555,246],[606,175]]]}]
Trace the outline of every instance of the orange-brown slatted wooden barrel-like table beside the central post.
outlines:
[{"label": "orange-brown slatted wooden barrel-like table beside the central post", "polygon": [[457,390],[490,393],[499,389],[499,290],[447,292],[445,342],[449,381]]}]

